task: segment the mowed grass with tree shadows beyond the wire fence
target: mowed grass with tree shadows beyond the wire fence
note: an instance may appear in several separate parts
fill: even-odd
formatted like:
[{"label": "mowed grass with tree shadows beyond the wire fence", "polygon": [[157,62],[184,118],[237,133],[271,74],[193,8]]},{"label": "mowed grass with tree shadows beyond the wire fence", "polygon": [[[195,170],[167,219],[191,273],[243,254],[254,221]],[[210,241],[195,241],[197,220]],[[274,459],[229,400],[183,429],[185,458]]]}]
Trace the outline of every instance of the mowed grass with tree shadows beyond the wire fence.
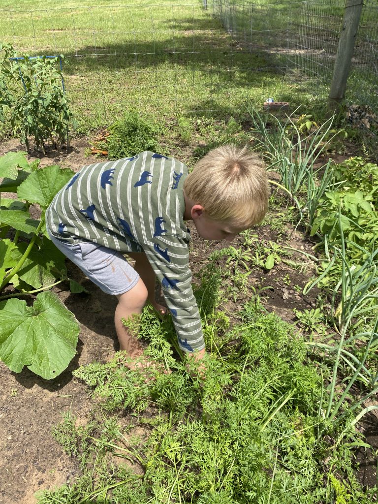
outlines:
[{"label": "mowed grass with tree shadows beyond the wire fence", "polygon": [[326,95],[316,75],[285,77],[287,6],[268,6],[269,16],[266,5],[255,7],[253,30],[238,22],[237,31],[200,0],[112,4],[20,0],[0,6],[1,40],[20,55],[64,54],[65,86],[82,131],[131,108],[157,118],[227,118],[243,113],[244,104],[262,107],[268,97],[305,108],[314,95]]}]

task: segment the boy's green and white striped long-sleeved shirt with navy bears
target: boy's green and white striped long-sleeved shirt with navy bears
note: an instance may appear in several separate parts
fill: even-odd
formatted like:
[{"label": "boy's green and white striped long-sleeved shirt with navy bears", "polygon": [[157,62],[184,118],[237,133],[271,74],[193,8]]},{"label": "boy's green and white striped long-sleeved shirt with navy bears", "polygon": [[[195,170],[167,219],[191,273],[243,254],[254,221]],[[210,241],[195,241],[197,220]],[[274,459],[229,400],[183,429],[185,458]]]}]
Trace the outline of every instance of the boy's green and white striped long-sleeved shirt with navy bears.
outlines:
[{"label": "boy's green and white striped long-sleeved shirt with navy bears", "polygon": [[148,151],[84,166],[56,194],[46,223],[55,238],[68,243],[143,250],[161,282],[179,345],[192,352],[205,344],[188,266],[186,176],[180,161]]}]

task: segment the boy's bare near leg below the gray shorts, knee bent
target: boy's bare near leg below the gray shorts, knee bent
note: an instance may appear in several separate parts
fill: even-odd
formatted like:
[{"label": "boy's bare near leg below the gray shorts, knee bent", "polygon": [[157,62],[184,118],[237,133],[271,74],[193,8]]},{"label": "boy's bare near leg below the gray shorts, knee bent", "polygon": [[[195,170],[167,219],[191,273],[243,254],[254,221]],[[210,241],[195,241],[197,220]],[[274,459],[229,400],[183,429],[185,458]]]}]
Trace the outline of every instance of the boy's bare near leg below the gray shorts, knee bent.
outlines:
[{"label": "boy's bare near leg below the gray shorts, knee bent", "polygon": [[117,332],[120,350],[126,350],[133,358],[138,358],[143,348],[138,337],[122,323],[122,319],[128,319],[134,314],[141,314],[148,296],[147,288],[143,280],[139,279],[135,287],[128,292],[116,296],[118,299],[114,313],[114,325]]}]

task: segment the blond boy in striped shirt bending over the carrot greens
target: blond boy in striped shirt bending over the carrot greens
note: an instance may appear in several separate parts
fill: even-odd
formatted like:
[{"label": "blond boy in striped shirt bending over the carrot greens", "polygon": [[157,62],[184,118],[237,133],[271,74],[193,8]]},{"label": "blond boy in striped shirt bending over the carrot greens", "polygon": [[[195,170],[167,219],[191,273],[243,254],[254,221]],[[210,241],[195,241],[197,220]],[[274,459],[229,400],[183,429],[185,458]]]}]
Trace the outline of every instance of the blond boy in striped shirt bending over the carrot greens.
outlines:
[{"label": "blond boy in striped shirt bending over the carrot greens", "polygon": [[[180,348],[196,360],[205,343],[188,267],[193,220],[207,240],[229,240],[260,222],[268,180],[260,158],[234,145],[211,150],[188,174],[184,164],[153,152],[84,166],[46,212],[55,245],[101,290],[118,299],[114,323],[121,350],[138,359],[138,338],[122,324],[147,300],[156,310],[155,277]],[[124,258],[135,262],[134,268]]]}]

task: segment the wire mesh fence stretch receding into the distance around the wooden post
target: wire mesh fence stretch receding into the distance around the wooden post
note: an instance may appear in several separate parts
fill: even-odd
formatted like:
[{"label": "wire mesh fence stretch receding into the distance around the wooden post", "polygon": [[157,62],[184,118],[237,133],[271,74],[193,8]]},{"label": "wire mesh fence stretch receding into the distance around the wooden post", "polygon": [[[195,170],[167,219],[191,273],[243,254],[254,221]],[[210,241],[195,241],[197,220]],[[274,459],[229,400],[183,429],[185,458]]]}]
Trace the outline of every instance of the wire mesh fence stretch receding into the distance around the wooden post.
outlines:
[{"label": "wire mesh fence stretch receding into the distance around the wooden post", "polygon": [[[209,3],[232,37],[260,44],[276,55],[286,83],[308,86],[324,102],[332,79],[339,37],[343,29],[344,0],[217,0]],[[369,105],[378,112],[378,4],[366,0],[356,36],[345,95],[348,104]]]}]

